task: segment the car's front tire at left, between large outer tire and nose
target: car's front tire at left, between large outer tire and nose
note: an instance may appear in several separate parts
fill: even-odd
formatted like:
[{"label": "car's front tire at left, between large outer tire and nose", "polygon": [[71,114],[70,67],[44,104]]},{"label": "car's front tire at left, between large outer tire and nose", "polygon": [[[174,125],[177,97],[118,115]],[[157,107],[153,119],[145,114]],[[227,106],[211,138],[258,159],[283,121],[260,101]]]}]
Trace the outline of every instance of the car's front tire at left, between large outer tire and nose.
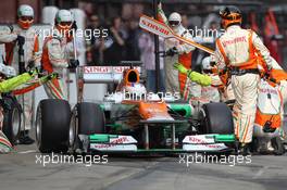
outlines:
[{"label": "car's front tire at left, between large outer tire and nose", "polygon": [[82,102],[77,105],[78,134],[92,135],[104,132],[104,113],[100,105]]}]

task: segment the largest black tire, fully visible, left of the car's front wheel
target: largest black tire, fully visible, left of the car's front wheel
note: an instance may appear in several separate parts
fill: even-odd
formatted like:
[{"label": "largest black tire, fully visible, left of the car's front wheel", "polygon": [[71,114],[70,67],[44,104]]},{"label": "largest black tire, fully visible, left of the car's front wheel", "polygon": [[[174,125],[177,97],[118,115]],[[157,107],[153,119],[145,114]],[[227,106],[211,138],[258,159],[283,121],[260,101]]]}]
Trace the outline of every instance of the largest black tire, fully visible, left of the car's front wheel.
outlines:
[{"label": "largest black tire, fully visible, left of the car's front wheel", "polygon": [[46,99],[39,102],[36,115],[36,139],[40,152],[63,152],[68,149],[71,107],[67,101]]}]

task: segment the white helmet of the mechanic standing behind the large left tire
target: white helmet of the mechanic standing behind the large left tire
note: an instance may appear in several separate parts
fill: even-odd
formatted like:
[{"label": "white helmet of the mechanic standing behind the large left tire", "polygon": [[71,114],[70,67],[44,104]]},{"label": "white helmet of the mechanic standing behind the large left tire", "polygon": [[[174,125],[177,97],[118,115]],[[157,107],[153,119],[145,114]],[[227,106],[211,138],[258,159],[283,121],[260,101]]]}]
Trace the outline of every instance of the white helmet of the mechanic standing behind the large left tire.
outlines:
[{"label": "white helmet of the mechanic standing behind the large left tire", "polygon": [[60,33],[66,34],[73,25],[73,15],[67,10],[59,10],[54,17],[54,25]]}]

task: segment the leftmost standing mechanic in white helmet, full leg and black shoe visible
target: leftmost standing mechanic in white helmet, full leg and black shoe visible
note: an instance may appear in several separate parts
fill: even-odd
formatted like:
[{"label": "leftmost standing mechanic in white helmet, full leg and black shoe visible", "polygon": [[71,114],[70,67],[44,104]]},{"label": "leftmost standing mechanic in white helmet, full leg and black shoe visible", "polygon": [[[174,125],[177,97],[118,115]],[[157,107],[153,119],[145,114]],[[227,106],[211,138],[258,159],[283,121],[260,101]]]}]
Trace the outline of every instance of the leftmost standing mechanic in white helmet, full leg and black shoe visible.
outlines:
[{"label": "leftmost standing mechanic in white helmet, full leg and black shoe visible", "polygon": [[[40,65],[39,39],[36,30],[32,28],[34,22],[34,10],[27,4],[22,4],[17,9],[17,25],[11,25],[4,27],[0,31],[0,42],[5,45],[5,64],[15,68],[16,73],[23,73],[25,71],[18,71],[18,48],[23,45],[25,67],[28,64],[34,63],[34,66]],[[20,143],[30,144],[34,140],[28,136],[28,131],[32,127],[32,113],[33,113],[33,97],[34,91],[17,97],[21,105],[24,107],[24,121],[22,125],[22,132],[20,137]]]}]

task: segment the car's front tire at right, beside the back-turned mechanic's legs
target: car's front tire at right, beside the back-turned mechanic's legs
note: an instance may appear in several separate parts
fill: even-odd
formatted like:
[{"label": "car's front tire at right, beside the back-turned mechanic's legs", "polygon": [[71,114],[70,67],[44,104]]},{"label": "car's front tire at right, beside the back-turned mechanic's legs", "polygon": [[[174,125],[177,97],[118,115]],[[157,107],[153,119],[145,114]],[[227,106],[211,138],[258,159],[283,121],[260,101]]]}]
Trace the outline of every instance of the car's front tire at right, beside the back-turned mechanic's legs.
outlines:
[{"label": "car's front tire at right, beside the back-turned mechanic's legs", "polygon": [[203,127],[207,134],[234,134],[230,109],[225,103],[208,103],[202,106]]}]

